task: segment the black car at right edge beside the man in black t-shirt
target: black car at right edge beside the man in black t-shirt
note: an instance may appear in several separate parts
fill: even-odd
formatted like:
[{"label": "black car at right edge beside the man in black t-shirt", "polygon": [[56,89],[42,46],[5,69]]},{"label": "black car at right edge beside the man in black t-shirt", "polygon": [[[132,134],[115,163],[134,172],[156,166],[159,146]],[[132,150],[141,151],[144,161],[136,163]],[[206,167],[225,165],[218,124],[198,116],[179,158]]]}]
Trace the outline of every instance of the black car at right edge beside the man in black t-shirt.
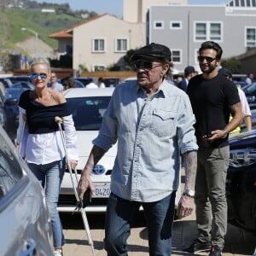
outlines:
[{"label": "black car at right edge beside the man in black t-shirt", "polygon": [[256,130],[230,137],[226,191],[229,218],[256,231]]}]

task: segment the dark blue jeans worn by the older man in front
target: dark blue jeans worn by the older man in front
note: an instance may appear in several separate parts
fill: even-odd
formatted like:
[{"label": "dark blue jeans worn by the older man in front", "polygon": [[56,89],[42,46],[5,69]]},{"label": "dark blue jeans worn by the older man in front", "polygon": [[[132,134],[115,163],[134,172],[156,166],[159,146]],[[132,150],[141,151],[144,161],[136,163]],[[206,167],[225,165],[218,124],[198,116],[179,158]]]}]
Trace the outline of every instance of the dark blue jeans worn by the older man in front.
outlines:
[{"label": "dark blue jeans worn by the older man in front", "polygon": [[166,198],[149,203],[127,201],[109,196],[105,224],[105,249],[108,256],[128,255],[127,239],[131,224],[142,205],[148,228],[150,256],[169,256],[172,253],[172,223],[176,191]]}]

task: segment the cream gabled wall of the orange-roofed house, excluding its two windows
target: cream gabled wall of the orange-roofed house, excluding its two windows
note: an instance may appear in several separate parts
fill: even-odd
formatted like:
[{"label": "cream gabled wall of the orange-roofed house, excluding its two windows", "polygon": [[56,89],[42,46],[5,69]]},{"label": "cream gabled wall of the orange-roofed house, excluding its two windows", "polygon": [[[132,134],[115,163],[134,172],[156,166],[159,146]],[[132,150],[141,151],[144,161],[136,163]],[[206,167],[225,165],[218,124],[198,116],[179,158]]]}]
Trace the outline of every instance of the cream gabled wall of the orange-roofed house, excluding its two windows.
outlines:
[{"label": "cream gabled wall of the orange-roofed house, excluding its two windows", "polygon": [[[93,52],[93,39],[105,39],[105,51]],[[84,23],[73,29],[73,68],[78,69],[82,64],[89,71],[94,66],[109,67],[122,59],[126,52],[115,51],[115,40],[127,38],[128,50],[145,44],[145,25],[132,24],[120,20],[113,15]]]}]

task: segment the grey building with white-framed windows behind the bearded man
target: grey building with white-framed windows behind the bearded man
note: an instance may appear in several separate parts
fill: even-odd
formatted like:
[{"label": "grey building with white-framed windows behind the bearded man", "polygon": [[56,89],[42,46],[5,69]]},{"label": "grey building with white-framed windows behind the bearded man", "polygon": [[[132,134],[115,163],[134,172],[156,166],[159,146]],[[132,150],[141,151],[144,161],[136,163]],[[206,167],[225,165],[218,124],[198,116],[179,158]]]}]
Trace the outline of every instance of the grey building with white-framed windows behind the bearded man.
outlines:
[{"label": "grey building with white-framed windows behind the bearded man", "polygon": [[[183,70],[197,61],[201,43],[212,40],[223,58],[242,55],[256,46],[256,1],[233,0],[222,5],[159,5],[147,13],[147,44],[166,44],[174,67]],[[255,63],[255,59],[254,59]],[[256,73],[256,66],[250,70]]]}]

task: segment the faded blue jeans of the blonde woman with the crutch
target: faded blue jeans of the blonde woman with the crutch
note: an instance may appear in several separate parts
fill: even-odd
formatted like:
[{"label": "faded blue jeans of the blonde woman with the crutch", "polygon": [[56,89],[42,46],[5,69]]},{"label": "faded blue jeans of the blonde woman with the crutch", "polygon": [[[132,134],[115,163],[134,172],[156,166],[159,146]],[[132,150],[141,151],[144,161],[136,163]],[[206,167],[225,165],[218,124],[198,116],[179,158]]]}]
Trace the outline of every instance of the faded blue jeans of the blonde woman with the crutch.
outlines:
[{"label": "faded blue jeans of the blonde woman with the crutch", "polygon": [[61,247],[65,243],[57,202],[59,199],[61,182],[65,172],[65,160],[58,160],[46,165],[27,164],[42,184],[45,192],[49,217],[52,225],[54,247]]}]

